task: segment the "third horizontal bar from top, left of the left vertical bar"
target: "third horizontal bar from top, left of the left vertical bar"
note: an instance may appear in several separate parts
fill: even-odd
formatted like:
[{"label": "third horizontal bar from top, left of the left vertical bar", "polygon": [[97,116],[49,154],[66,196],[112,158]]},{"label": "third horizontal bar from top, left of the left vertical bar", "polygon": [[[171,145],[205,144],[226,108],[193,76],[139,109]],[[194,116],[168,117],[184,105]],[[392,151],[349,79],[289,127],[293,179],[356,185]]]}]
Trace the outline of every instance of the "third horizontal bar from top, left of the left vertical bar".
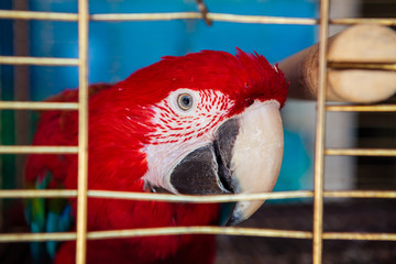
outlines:
[{"label": "third horizontal bar from top, left of the left vertical bar", "polygon": [[14,110],[78,110],[77,102],[45,102],[45,101],[0,101],[0,109]]}]

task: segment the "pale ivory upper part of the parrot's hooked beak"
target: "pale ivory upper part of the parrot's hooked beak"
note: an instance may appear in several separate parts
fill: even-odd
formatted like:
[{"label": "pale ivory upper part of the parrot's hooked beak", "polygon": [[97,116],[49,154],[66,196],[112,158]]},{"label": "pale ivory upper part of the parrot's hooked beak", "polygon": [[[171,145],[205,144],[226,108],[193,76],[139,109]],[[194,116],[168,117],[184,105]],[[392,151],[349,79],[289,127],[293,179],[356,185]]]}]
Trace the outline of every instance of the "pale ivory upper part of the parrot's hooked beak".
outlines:
[{"label": "pale ivory upper part of the parrot's hooked beak", "polygon": [[[233,146],[231,170],[235,193],[272,191],[277,180],[284,148],[277,101],[255,102],[239,116],[240,132]],[[228,224],[252,216],[264,201],[240,201]]]}]

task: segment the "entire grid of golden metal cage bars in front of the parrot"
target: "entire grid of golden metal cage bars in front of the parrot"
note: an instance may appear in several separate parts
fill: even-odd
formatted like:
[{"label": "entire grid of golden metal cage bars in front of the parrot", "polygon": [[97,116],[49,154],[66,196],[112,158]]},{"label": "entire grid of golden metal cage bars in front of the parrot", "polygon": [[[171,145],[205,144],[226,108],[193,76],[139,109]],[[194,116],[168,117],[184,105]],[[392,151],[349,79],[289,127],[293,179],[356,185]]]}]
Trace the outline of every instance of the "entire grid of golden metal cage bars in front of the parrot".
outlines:
[{"label": "entire grid of golden metal cage bars in front of the parrot", "polygon": [[[136,194],[124,191],[87,190],[87,158],[88,158],[88,23],[89,21],[158,21],[158,20],[180,20],[180,19],[201,19],[199,12],[174,12],[174,13],[131,13],[131,14],[89,14],[88,0],[78,0],[78,13],[56,13],[56,12],[33,12],[33,11],[11,11],[0,10],[0,19],[13,20],[54,20],[74,21],[78,23],[78,58],[37,58],[0,56],[0,64],[10,65],[53,65],[53,66],[78,66],[79,68],[79,95],[78,102],[9,102],[0,101],[0,109],[31,109],[31,110],[78,110],[79,112],[79,144],[78,146],[0,146],[0,154],[25,154],[25,153],[67,153],[78,154],[78,189],[77,190],[0,190],[0,198],[32,198],[32,197],[77,197],[77,232],[65,233],[14,233],[0,234],[0,242],[11,241],[45,241],[45,240],[76,240],[77,254],[76,263],[85,263],[86,240],[107,239],[107,238],[130,238],[143,235],[166,235],[184,233],[211,233],[229,235],[252,235],[252,237],[277,237],[309,239],[314,241],[312,260],[314,264],[322,262],[323,240],[378,240],[396,241],[394,233],[351,233],[351,232],[323,232],[323,198],[388,198],[395,199],[396,191],[375,191],[375,190],[323,190],[324,156],[326,155],[372,155],[372,156],[396,156],[396,150],[338,150],[326,148],[324,128],[326,111],[372,111],[372,112],[395,112],[395,105],[380,106],[327,106],[326,86],[327,69],[329,67],[364,67],[364,68],[385,68],[395,70],[395,64],[381,65],[362,64],[358,65],[327,61],[327,42],[329,24],[359,24],[375,23],[382,25],[396,25],[396,19],[329,19],[329,0],[320,0],[320,19],[301,18],[275,18],[264,15],[237,15],[224,13],[208,13],[208,19],[232,23],[262,23],[262,24],[319,24],[319,96],[318,116],[316,128],[316,162],[315,162],[315,191],[278,191],[273,194],[252,194],[233,196],[172,196],[161,194]],[[294,230],[271,230],[271,229],[250,229],[250,228],[218,228],[218,227],[178,227],[178,228],[155,228],[135,230],[109,230],[87,232],[87,197],[91,198],[112,198],[112,199],[140,199],[140,200],[162,200],[162,201],[189,201],[189,202],[226,202],[254,199],[287,199],[287,198],[314,198],[314,227],[312,232]]]}]

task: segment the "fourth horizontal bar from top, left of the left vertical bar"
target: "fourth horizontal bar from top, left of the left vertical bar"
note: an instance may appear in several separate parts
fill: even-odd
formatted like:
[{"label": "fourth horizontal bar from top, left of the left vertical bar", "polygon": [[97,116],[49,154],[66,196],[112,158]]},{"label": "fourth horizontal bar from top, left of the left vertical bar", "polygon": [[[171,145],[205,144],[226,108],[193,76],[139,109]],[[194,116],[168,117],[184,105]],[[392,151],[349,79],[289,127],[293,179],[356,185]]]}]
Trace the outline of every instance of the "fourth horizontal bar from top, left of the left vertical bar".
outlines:
[{"label": "fourth horizontal bar from top, left of the left vertical bar", "polygon": [[0,145],[0,154],[77,154],[77,146]]}]

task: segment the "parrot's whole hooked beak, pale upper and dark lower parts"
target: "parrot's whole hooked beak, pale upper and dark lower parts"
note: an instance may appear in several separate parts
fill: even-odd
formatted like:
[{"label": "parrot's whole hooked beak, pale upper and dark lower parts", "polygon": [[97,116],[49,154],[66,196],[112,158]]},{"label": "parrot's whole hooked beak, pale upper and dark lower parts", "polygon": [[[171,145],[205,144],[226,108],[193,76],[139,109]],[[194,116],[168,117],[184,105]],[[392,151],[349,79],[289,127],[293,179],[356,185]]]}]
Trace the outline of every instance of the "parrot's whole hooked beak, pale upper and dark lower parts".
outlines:
[{"label": "parrot's whole hooked beak, pale upper and dark lower parts", "polygon": [[[224,121],[212,144],[186,155],[173,169],[170,184],[187,195],[268,193],[280,170],[283,148],[279,103],[255,101]],[[248,219],[263,202],[237,202],[227,224]]]}]

